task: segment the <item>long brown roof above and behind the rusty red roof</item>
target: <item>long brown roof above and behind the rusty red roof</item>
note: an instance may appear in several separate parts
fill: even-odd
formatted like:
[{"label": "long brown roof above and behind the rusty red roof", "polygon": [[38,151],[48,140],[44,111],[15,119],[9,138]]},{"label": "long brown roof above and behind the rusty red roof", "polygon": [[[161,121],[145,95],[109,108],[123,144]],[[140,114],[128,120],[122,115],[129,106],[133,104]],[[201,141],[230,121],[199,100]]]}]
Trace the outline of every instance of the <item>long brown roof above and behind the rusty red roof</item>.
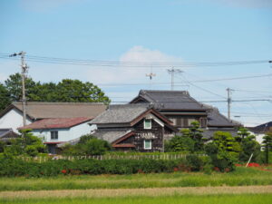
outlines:
[{"label": "long brown roof above and behind the rusty red roof", "polygon": [[[21,111],[22,102],[13,102],[4,112],[12,108]],[[26,114],[32,119],[96,117],[106,110],[100,102],[27,102]],[[1,115],[0,115],[1,117]]]}]

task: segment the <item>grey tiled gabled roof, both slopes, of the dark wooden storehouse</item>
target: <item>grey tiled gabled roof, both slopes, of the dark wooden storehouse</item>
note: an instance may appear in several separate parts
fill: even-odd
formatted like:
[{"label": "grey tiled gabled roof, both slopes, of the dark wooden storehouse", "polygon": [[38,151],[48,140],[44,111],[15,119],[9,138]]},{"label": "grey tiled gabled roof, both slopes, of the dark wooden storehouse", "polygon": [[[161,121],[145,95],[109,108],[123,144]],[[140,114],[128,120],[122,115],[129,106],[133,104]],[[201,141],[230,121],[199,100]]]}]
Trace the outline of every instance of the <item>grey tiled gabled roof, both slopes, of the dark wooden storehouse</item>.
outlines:
[{"label": "grey tiled gabled roof, both slopes, of the dark wooden storehouse", "polygon": [[141,120],[146,114],[152,113],[160,118],[161,121],[171,124],[165,116],[160,112],[152,109],[151,104],[124,104],[124,105],[111,105],[109,109],[102,112],[99,116],[93,119],[91,124],[130,124]]}]

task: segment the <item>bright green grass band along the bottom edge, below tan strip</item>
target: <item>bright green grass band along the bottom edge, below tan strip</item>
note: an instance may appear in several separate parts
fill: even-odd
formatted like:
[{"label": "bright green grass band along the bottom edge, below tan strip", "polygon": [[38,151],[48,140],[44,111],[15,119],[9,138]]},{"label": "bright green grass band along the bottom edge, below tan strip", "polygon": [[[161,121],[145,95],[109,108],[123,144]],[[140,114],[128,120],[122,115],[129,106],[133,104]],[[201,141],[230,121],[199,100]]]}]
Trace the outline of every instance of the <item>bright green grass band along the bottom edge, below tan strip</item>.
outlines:
[{"label": "bright green grass band along the bottom edge, below tan strip", "polygon": [[0,203],[35,203],[35,204],[270,204],[272,194],[242,194],[242,195],[207,195],[207,196],[165,196],[165,197],[122,197],[102,199],[5,199]]}]

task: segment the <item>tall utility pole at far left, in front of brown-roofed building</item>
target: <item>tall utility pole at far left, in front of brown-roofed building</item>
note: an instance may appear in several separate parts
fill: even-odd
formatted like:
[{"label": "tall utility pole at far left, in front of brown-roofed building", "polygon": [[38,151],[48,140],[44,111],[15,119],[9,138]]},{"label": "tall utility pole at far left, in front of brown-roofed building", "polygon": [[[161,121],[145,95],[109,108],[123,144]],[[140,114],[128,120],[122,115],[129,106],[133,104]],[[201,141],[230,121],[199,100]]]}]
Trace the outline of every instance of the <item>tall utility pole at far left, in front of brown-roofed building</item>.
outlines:
[{"label": "tall utility pole at far left, in front of brown-roofed building", "polygon": [[26,103],[26,99],[25,99],[25,87],[24,87],[24,81],[25,81],[25,73],[27,71],[27,65],[24,62],[24,51],[20,52],[20,53],[13,53],[11,55],[9,55],[10,57],[14,57],[14,56],[21,56],[21,69],[22,69],[22,105],[23,105],[23,124],[24,126],[26,125],[26,108],[25,108],[25,103]]}]

